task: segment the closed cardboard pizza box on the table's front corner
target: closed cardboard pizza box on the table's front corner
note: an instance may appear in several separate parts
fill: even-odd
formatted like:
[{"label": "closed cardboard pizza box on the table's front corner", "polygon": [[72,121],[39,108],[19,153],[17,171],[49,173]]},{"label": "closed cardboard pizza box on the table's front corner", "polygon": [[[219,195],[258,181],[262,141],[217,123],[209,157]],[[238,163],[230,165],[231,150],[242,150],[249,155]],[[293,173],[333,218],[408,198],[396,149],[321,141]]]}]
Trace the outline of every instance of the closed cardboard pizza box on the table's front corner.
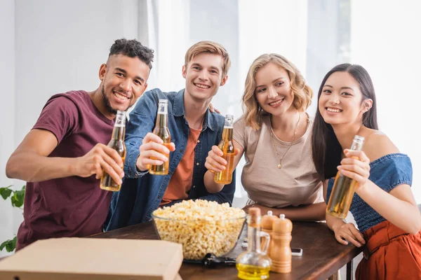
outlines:
[{"label": "closed cardboard pizza box on the table's front corner", "polygon": [[55,238],[0,262],[1,280],[181,279],[182,245],[163,240]]}]

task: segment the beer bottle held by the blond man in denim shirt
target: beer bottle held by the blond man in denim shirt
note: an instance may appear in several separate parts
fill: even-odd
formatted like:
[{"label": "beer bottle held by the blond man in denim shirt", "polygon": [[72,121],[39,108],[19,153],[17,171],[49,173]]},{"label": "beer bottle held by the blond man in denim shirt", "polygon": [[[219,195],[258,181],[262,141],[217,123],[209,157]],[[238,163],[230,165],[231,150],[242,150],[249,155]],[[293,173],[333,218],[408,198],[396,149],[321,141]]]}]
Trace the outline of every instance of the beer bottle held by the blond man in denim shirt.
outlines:
[{"label": "beer bottle held by the blond man in denim shirt", "polygon": [[[171,134],[168,130],[168,99],[159,99],[158,113],[156,114],[156,124],[153,131],[154,134],[158,135],[163,141],[163,146],[168,149],[171,146]],[[164,154],[166,155],[166,154]],[[166,155],[168,160],[163,162],[162,165],[150,165],[149,173],[154,175],[166,175],[168,174],[168,167],[170,165],[170,155]],[[152,160],[156,158],[152,157]]]}]

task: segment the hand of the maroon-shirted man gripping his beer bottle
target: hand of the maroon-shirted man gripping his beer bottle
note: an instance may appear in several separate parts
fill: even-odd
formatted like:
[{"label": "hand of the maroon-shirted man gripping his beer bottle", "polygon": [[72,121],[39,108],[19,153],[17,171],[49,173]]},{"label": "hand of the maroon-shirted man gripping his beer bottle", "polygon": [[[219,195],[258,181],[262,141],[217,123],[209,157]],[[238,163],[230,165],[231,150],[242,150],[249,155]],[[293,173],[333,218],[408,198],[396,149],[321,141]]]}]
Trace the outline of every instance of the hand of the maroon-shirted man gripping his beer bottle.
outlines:
[{"label": "hand of the maroon-shirted man gripping his beer bottle", "polygon": [[121,184],[121,178],[124,176],[123,160],[113,148],[96,144],[86,155],[76,158],[74,172],[76,176],[88,177],[96,174],[95,178],[100,179],[104,172],[107,172],[116,183]]}]

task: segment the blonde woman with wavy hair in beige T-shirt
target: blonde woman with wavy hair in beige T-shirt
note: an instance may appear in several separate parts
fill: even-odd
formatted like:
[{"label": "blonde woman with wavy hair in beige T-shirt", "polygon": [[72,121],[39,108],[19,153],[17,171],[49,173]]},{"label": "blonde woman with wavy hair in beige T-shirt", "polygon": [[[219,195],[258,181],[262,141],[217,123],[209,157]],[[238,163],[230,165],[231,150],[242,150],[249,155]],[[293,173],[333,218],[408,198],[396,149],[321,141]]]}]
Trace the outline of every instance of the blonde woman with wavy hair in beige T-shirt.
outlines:
[{"label": "blonde woman with wavy hair in beige T-shirt", "polygon": [[[260,55],[250,66],[244,115],[234,123],[234,168],[243,154],[246,158],[241,183],[250,200],[245,209],[259,207],[295,221],[324,220],[322,184],[312,162],[312,119],[305,113],[312,96],[300,71],[281,55]],[[213,172],[226,164],[213,146],[205,163],[208,192],[224,188]]]}]

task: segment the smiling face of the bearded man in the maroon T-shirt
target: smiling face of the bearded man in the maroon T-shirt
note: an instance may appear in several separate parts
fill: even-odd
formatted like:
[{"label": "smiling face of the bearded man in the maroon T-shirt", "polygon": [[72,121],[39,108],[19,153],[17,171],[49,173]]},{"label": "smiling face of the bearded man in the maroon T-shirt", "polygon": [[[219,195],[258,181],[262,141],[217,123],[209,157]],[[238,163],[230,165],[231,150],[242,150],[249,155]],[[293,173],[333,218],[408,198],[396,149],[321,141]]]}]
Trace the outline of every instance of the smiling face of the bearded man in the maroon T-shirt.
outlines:
[{"label": "smiling face of the bearded man in the maroon T-shirt", "polygon": [[102,100],[109,113],[126,111],[145,92],[149,66],[138,57],[112,55],[100,67]]}]

